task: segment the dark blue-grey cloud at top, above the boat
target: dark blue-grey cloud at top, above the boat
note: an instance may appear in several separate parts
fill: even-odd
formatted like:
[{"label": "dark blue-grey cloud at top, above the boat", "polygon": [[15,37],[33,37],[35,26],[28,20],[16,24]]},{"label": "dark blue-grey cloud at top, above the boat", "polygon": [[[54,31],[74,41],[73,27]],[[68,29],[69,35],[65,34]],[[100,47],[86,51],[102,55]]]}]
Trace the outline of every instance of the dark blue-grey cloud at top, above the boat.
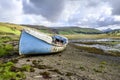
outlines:
[{"label": "dark blue-grey cloud at top, above the boat", "polygon": [[23,10],[25,14],[42,15],[50,21],[59,18],[65,0],[30,0],[29,3],[23,0]]}]

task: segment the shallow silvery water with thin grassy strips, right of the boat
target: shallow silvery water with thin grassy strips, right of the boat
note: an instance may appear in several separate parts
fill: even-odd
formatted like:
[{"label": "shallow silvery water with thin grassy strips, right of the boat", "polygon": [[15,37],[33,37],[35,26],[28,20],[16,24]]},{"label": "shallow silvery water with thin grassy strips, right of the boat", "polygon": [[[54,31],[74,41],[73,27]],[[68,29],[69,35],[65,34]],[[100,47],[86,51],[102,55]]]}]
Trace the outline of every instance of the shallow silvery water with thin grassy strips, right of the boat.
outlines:
[{"label": "shallow silvery water with thin grassy strips, right of the boat", "polygon": [[[120,39],[112,39],[112,38],[105,38],[105,39],[80,39],[80,40],[71,40],[71,42],[75,42],[75,45],[77,46],[83,46],[83,47],[95,47],[97,49],[101,49],[104,51],[117,51],[120,52]],[[77,42],[77,43],[76,43]],[[93,44],[84,44],[80,42],[87,42]],[[94,43],[95,42],[95,43]],[[100,44],[103,43],[103,44]],[[106,44],[104,44],[106,43]],[[109,44],[107,44],[109,43]]]}]

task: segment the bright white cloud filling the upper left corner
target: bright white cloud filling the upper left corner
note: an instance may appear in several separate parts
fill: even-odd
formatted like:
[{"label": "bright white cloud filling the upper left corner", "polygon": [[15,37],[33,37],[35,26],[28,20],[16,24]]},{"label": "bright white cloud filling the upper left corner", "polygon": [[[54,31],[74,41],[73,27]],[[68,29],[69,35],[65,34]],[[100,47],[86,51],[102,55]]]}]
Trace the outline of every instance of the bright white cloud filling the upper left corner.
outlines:
[{"label": "bright white cloud filling the upper left corner", "polygon": [[2,22],[21,22],[22,5],[16,0],[0,1],[0,21]]}]

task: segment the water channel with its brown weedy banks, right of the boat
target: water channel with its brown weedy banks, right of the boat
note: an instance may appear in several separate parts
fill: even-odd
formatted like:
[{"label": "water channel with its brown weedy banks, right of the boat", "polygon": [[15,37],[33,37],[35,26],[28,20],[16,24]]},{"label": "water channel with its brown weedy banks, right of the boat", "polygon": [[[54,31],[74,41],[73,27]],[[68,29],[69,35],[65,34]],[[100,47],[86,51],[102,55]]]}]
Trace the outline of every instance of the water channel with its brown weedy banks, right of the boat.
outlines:
[{"label": "water channel with its brown weedy banks, right of the boat", "polygon": [[90,53],[120,56],[120,39],[80,39],[71,40],[79,49]]}]

